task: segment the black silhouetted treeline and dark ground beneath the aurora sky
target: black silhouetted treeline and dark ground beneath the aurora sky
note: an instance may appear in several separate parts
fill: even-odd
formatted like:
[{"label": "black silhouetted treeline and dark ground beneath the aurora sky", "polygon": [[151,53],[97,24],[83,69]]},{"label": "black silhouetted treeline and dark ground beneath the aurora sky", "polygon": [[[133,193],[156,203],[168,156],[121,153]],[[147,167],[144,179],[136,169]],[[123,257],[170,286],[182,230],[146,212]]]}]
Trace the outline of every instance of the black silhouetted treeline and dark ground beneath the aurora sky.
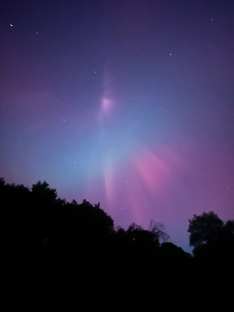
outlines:
[{"label": "black silhouetted treeline and dark ground beneath the aurora sky", "polygon": [[167,242],[160,224],[114,228],[100,203],[67,202],[46,181],[30,190],[1,178],[0,194],[4,288],[18,308],[56,310],[65,302],[66,311],[90,304],[182,311],[221,303],[224,311],[233,305],[233,220],[194,215],[192,256]]}]

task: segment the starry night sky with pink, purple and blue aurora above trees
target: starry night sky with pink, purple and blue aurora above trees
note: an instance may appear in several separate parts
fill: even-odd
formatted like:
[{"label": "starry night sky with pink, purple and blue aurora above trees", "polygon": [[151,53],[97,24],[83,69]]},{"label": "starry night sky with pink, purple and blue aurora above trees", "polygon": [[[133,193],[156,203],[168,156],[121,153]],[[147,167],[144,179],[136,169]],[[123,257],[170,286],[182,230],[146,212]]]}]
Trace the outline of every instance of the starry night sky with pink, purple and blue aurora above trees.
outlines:
[{"label": "starry night sky with pink, purple and blue aurora above trees", "polygon": [[115,226],[234,217],[232,1],[3,1],[0,176]]}]

